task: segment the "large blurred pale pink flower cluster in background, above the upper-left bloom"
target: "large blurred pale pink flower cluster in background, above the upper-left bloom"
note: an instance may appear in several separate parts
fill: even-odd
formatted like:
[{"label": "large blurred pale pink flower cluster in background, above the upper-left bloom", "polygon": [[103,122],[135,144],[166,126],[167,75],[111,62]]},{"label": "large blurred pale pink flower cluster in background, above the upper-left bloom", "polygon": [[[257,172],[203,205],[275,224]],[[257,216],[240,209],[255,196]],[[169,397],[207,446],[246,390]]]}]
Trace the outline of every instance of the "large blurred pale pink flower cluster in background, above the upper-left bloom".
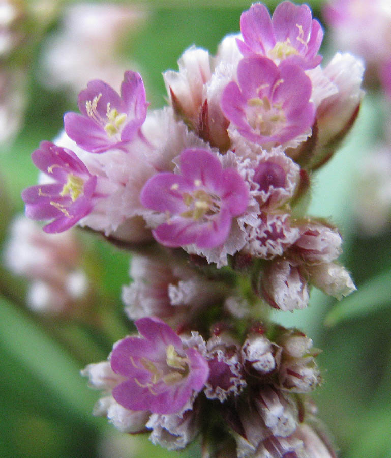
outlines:
[{"label": "large blurred pale pink flower cluster in background, above the upper-left bloom", "polygon": [[134,4],[76,3],[62,10],[56,32],[42,46],[40,82],[49,89],[77,93],[91,78],[121,83],[129,64],[121,62],[119,48],[129,31],[147,19]]}]

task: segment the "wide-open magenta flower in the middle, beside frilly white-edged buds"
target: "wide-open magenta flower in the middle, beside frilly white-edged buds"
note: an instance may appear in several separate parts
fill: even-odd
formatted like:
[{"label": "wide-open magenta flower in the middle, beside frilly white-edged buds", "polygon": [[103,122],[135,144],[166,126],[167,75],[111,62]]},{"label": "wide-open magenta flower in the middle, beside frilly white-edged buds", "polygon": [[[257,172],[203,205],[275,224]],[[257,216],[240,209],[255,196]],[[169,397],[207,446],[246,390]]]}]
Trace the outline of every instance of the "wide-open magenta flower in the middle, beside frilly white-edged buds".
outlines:
[{"label": "wide-open magenta flower in the middle, beside frilly white-edged buds", "polygon": [[195,243],[199,248],[222,245],[231,220],[242,214],[249,202],[246,183],[233,168],[204,149],[187,149],[179,158],[181,175],[160,173],[141,191],[141,203],[167,215],[154,231],[166,246]]}]

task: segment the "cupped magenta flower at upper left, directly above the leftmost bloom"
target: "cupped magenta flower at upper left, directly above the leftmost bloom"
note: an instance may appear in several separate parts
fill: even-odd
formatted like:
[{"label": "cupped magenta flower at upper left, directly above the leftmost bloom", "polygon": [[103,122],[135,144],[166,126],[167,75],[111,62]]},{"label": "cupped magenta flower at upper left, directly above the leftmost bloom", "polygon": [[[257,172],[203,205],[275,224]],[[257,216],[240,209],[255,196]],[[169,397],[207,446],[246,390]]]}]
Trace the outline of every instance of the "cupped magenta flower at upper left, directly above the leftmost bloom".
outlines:
[{"label": "cupped magenta flower at upper left, directly above the leftmost bloom", "polygon": [[140,132],[145,121],[145,88],[141,76],[127,71],[121,96],[105,82],[89,81],[79,94],[78,113],[66,113],[64,127],[68,136],[92,153],[121,148]]}]

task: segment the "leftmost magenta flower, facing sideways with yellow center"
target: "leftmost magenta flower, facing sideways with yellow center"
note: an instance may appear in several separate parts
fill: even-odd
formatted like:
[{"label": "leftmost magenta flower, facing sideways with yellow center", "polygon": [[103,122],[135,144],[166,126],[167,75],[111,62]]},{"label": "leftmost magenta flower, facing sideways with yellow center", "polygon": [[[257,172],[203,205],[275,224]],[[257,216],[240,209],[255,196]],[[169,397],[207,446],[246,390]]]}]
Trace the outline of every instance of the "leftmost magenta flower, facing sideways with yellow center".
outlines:
[{"label": "leftmost magenta flower, facing sideways with yellow center", "polygon": [[43,230],[63,232],[93,209],[97,177],[89,173],[73,151],[50,141],[42,141],[32,159],[53,183],[32,186],[22,192],[26,215],[38,220],[53,219]]}]

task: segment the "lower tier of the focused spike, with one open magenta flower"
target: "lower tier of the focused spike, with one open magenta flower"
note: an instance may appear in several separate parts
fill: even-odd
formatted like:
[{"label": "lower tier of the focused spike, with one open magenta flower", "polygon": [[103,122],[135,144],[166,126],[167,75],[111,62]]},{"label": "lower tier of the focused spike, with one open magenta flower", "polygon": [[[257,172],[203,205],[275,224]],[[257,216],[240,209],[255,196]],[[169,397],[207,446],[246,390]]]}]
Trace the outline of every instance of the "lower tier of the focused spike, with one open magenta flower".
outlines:
[{"label": "lower tier of the focused spike, with one open magenta flower", "polygon": [[[196,331],[178,335],[158,318],[141,318],[136,326],[139,334],[116,342],[109,361],[82,371],[92,387],[105,391],[95,414],[107,415],[119,430],[148,428],[154,443],[181,449],[205,428],[201,412],[209,399],[218,399],[216,414],[235,439],[238,457],[285,456],[278,449],[310,457],[311,447],[324,458],[335,456],[310,426],[314,407],[298,395],[321,382],[314,360],[319,351],[302,332],[266,332],[258,323],[240,346],[222,325],[206,342]],[[214,421],[208,416],[207,427],[217,427]],[[303,431],[315,440],[306,440]],[[267,454],[270,444],[276,452]]]}]

